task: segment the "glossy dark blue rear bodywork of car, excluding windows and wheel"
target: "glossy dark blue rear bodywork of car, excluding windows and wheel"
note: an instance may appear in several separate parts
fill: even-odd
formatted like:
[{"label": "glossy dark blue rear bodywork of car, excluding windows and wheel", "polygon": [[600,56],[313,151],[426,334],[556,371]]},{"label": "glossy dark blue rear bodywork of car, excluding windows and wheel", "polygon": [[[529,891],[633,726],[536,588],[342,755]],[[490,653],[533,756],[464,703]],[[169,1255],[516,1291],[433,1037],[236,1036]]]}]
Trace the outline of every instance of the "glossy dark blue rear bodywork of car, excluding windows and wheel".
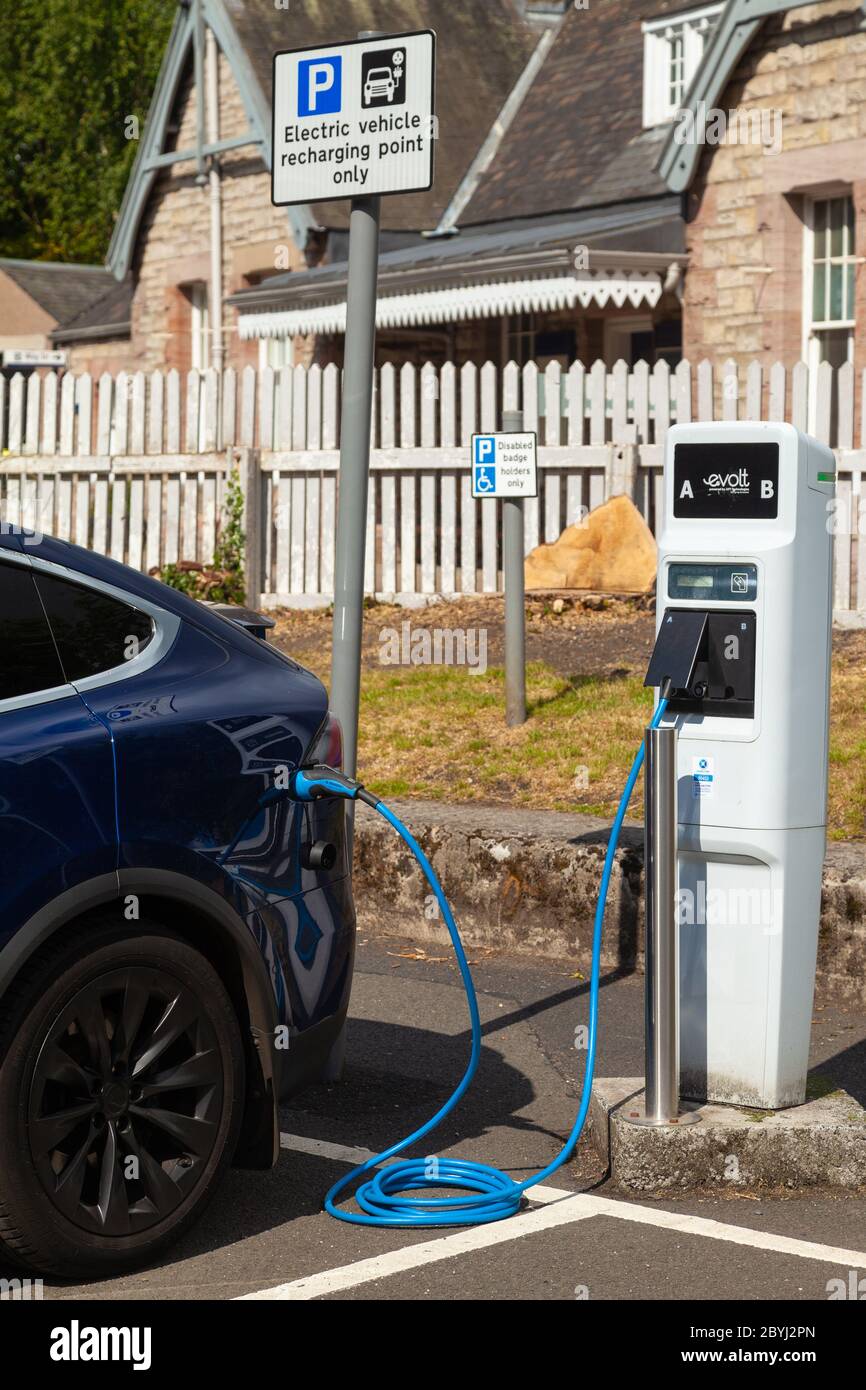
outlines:
[{"label": "glossy dark blue rear bodywork of car, excluding windows and wheel", "polygon": [[[345,805],[284,794],[327,717],[327,692],[231,619],[114,560],[8,532],[3,550],[26,557],[38,587],[61,575],[120,594],[152,616],[158,641],[128,669],[71,682],[47,703],[6,714],[0,703],[0,819],[6,801],[6,815],[18,815],[0,863],[11,872],[18,855],[40,867],[6,899],[0,948],[14,940],[10,959],[26,959],[54,909],[60,927],[70,903],[88,905],[89,884],[104,903],[113,873],[121,906],[136,892],[189,901],[240,956],[240,938],[254,952],[245,990],[267,995],[249,1012],[275,1104],[321,1068],[352,983]],[[317,841],[336,848],[328,870],[307,866]],[[0,992],[3,966],[0,951]],[[288,1051],[271,1056],[281,1024]]]}]

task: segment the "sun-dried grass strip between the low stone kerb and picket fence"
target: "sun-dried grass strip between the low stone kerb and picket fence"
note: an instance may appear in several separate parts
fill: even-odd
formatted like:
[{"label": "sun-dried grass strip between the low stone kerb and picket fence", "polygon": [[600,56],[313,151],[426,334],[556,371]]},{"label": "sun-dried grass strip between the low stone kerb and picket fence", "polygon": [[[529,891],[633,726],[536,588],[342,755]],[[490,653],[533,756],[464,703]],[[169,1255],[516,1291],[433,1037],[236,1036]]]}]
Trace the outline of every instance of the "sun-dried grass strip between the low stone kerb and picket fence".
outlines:
[{"label": "sun-dried grass strip between the low stone kerb and picket fence", "polygon": [[[549,600],[538,598],[527,607],[530,631],[549,634],[552,644],[560,627],[584,632],[584,655],[592,652],[592,634],[616,623],[623,631],[623,624],[639,620],[624,605],[552,614]],[[499,620],[499,610],[500,600],[470,599],[427,610],[425,621],[466,630]],[[500,667],[474,676],[466,667],[379,664],[378,634],[407,620],[417,623],[418,614],[384,605],[366,613],[359,767],[371,790],[382,796],[613,815],[652,712],[634,651],[624,655],[626,670],[616,676],[566,677],[546,660],[532,662],[530,720],[509,730]],[[278,635],[286,649],[325,681],[329,627],[329,614],[279,614]],[[642,815],[641,784],[631,815]],[[834,634],[828,834],[866,837],[866,632]]]}]

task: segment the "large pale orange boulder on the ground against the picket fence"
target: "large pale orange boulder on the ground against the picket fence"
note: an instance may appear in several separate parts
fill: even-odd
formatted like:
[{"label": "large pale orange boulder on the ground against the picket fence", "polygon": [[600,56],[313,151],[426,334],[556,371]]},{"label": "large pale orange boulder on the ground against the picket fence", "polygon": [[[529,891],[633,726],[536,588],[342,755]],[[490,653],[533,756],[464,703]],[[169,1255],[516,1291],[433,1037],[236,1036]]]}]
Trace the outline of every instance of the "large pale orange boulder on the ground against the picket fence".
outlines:
[{"label": "large pale orange boulder on the ground against the picket fence", "polygon": [[630,498],[595,507],[559,541],[525,559],[527,589],[595,589],[645,594],[656,577],[656,542]]}]

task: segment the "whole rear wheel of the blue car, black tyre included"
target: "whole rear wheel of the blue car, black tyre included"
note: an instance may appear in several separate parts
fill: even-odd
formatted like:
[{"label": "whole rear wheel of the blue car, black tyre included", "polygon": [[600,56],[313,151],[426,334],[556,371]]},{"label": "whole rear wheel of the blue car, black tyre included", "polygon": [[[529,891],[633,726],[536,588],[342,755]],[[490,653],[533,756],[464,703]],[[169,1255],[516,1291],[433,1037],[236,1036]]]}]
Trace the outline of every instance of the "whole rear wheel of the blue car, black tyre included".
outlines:
[{"label": "whole rear wheel of the blue car, black tyre included", "polygon": [[243,1115],[238,1019],[154,920],[93,919],[26,963],[0,1024],[0,1259],[93,1279],[202,1215]]}]

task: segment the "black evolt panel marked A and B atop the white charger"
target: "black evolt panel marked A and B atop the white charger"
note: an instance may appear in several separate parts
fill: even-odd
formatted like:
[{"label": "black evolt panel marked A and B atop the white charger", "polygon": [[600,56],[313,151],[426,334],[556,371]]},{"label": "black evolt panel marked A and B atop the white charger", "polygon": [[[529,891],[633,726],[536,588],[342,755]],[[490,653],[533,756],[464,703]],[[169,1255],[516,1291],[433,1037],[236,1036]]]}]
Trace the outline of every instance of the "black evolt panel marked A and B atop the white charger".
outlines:
[{"label": "black evolt panel marked A and B atop the white charger", "polygon": [[731,521],[778,516],[778,445],[678,443],[674,516]]}]

